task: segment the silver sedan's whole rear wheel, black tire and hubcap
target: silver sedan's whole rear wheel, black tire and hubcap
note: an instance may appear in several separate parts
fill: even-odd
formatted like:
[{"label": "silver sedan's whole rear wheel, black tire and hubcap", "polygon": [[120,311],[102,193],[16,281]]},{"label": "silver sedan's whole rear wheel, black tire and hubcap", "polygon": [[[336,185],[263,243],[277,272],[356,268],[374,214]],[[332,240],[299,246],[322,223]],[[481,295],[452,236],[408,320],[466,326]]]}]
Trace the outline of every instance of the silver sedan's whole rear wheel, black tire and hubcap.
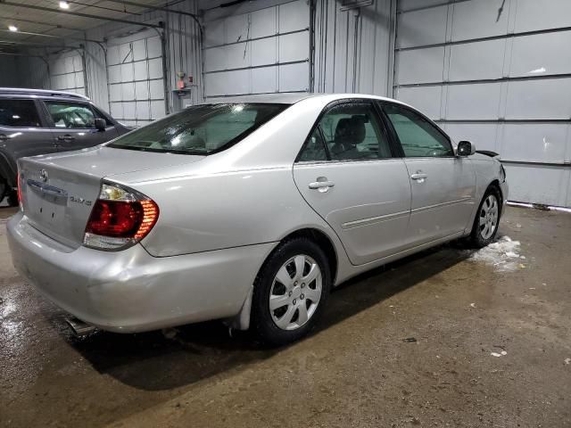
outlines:
[{"label": "silver sedan's whole rear wheel, black tire and hubcap", "polygon": [[256,277],[252,328],[272,346],[295,342],[317,324],[331,290],[325,253],[308,238],[281,243]]}]

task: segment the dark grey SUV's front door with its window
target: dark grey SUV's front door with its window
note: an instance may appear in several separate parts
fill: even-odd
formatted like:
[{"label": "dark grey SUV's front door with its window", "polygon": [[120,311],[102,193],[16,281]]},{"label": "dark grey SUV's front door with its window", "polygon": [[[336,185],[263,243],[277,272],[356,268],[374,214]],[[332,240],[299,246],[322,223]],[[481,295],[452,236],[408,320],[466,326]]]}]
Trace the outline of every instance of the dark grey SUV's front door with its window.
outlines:
[{"label": "dark grey SUV's front door with its window", "polygon": [[[113,123],[89,103],[44,100],[47,118],[59,152],[103,144],[119,136]],[[95,119],[104,119],[107,128],[95,128]]]}]

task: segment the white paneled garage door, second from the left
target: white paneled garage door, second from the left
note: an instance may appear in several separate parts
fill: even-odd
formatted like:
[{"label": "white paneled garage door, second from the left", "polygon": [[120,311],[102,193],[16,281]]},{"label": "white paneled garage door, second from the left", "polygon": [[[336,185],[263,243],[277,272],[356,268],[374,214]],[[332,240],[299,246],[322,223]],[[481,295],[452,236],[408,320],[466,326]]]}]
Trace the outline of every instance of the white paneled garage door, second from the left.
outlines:
[{"label": "white paneled garage door, second from the left", "polygon": [[142,126],[165,115],[161,38],[152,31],[108,42],[111,114]]}]

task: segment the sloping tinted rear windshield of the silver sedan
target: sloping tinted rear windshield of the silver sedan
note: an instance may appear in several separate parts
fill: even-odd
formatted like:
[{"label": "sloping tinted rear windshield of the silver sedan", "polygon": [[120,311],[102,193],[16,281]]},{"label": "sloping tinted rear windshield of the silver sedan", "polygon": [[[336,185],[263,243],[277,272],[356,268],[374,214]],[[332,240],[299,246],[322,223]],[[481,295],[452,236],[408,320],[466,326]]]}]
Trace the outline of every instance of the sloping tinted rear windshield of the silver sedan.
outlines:
[{"label": "sloping tinted rear windshield of the silver sedan", "polygon": [[197,105],[121,136],[108,147],[183,154],[220,152],[286,107],[268,103]]}]

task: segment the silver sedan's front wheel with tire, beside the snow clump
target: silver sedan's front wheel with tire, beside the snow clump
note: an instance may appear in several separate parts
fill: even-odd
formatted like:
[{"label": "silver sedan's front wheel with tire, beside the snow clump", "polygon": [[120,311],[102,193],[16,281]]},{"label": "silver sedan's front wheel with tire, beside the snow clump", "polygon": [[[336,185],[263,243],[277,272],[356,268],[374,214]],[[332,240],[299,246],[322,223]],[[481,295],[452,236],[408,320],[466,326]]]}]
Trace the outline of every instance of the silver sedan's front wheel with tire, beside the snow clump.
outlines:
[{"label": "silver sedan's front wheel with tire, beside the snow clump", "polygon": [[469,237],[472,247],[483,248],[492,243],[500,226],[501,197],[500,191],[494,187],[488,187],[484,193],[482,202],[478,206],[474,225]]}]

